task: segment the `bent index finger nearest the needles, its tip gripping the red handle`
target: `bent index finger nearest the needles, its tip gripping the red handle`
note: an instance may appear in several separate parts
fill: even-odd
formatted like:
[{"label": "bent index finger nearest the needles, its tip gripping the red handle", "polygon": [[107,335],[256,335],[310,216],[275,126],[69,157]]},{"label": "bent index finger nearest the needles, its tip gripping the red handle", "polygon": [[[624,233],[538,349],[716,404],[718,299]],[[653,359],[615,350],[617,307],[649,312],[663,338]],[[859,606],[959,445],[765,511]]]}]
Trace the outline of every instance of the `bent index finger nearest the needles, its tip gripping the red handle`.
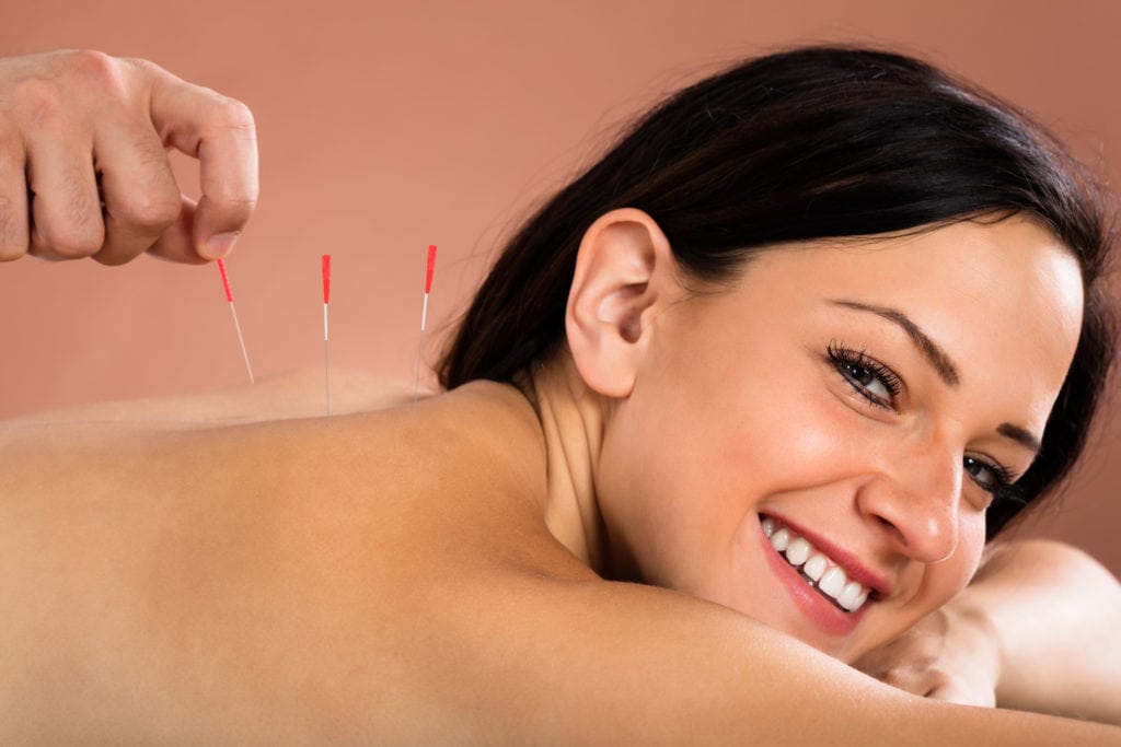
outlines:
[{"label": "bent index finger nearest the needles, its tip gripping the red handle", "polygon": [[257,129],[249,109],[155,65],[151,114],[165,144],[200,160],[202,197],[193,242],[204,258],[224,256],[257,205]]}]

